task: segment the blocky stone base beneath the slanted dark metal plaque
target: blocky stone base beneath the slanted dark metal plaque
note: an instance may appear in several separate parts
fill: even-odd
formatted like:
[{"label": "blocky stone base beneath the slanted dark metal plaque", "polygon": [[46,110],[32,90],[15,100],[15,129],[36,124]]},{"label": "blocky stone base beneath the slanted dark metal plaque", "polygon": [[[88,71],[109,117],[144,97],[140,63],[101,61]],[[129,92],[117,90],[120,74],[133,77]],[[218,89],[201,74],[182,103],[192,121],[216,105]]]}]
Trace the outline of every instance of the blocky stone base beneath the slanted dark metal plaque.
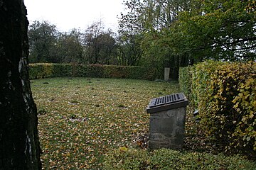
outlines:
[{"label": "blocky stone base beneath the slanted dark metal plaque", "polygon": [[183,147],[186,107],[150,114],[149,149]]}]

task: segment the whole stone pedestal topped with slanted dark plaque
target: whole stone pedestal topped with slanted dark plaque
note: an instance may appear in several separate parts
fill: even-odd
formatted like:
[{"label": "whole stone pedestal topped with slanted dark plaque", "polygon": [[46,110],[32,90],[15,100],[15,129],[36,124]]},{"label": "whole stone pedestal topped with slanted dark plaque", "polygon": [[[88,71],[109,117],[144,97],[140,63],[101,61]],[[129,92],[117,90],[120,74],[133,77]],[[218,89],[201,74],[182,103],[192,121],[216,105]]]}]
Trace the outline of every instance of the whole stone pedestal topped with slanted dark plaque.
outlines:
[{"label": "whole stone pedestal topped with slanted dark plaque", "polygon": [[146,109],[150,113],[149,149],[183,147],[187,105],[181,93],[151,100]]}]

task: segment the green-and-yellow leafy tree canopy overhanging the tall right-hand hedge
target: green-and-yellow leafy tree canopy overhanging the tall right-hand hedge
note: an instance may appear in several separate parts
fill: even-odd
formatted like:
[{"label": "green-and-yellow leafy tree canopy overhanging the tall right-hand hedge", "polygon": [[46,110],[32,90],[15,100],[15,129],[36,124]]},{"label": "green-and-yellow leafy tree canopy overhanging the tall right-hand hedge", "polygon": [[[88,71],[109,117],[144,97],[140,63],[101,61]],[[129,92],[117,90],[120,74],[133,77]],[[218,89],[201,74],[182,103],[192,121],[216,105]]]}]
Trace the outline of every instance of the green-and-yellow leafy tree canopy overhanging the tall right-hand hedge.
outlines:
[{"label": "green-and-yellow leafy tree canopy overhanging the tall right-hand hedge", "polygon": [[255,60],[255,11],[247,10],[249,5],[250,1],[202,1],[201,8],[180,13],[167,32],[177,40],[178,52],[202,59]]}]

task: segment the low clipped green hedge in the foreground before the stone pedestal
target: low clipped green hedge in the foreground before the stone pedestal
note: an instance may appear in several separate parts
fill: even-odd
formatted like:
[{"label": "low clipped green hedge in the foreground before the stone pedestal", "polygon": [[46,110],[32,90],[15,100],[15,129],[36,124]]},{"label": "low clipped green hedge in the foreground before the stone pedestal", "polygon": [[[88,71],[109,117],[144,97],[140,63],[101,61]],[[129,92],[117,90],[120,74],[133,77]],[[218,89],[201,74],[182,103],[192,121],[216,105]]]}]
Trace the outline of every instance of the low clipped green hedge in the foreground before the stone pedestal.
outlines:
[{"label": "low clipped green hedge in the foreground before the stone pedestal", "polygon": [[198,152],[178,152],[171,149],[114,149],[105,154],[103,169],[255,169],[255,162],[239,155],[225,157]]}]

